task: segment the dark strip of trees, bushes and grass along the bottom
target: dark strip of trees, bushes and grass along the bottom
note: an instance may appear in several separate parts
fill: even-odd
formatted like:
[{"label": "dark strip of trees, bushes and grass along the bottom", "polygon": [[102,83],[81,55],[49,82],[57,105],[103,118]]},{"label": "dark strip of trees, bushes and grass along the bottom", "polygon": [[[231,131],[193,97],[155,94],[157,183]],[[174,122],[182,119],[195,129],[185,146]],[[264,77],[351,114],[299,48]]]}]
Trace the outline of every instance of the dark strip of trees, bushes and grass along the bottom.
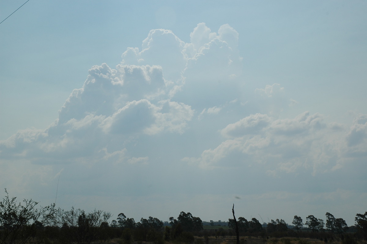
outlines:
[{"label": "dark strip of trees, bushes and grass along the bottom", "polygon": [[[157,218],[141,218],[135,222],[120,213],[111,222],[110,212],[85,212],[71,208],[63,210],[55,205],[38,207],[38,202],[6,196],[0,202],[0,244],[63,244],[150,242],[223,244],[235,243],[235,228],[239,229],[240,244],[245,243],[367,243],[367,212],[356,214],[355,226],[347,226],[344,219],[326,213],[326,222],[313,215],[306,222],[295,215],[292,228],[283,219],[260,223],[243,217],[224,221],[201,221],[190,212],[181,212],[170,222]],[[230,211],[229,211],[230,213]]]}]

